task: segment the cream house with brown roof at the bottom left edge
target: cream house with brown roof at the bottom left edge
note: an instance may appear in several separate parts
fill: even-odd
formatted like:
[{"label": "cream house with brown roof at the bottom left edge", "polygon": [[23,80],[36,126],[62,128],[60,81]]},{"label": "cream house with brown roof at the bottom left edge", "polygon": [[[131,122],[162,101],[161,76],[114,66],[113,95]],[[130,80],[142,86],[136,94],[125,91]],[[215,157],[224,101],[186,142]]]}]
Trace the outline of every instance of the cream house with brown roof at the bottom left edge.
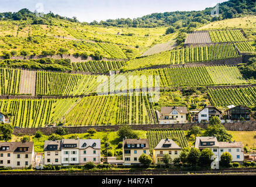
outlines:
[{"label": "cream house with brown roof at the bottom left edge", "polygon": [[33,142],[1,142],[0,167],[25,168],[34,166]]}]

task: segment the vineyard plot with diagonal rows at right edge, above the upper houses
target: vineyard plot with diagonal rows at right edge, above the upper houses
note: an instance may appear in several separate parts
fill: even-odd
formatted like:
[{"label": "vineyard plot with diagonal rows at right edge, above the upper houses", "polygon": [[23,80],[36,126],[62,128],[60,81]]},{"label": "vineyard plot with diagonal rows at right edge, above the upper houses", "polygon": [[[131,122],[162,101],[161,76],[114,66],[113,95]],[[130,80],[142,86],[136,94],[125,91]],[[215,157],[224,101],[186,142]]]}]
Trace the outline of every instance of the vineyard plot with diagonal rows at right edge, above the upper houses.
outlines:
[{"label": "vineyard plot with diagonal rows at right edge, above the upper houses", "polygon": [[214,106],[256,106],[256,87],[209,89],[208,95]]}]

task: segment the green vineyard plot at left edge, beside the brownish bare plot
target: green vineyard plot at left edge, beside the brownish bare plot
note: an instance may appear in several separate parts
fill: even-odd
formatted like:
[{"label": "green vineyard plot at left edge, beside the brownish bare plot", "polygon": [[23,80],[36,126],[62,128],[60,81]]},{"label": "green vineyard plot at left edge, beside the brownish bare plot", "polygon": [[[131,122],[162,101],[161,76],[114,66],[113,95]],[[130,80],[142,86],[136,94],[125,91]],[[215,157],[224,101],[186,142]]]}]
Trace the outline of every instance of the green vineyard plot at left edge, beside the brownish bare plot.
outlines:
[{"label": "green vineyard plot at left edge, beside the brownish bare plot", "polygon": [[21,70],[0,68],[1,95],[19,94]]}]

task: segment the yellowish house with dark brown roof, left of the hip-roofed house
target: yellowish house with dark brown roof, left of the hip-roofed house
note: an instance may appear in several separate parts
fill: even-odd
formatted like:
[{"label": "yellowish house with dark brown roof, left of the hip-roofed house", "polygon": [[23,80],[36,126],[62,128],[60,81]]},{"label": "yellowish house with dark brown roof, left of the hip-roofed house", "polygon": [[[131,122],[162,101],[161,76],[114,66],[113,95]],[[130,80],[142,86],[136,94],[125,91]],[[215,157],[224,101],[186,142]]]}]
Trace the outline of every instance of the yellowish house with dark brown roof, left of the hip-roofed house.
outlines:
[{"label": "yellowish house with dark brown roof, left of the hip-roofed house", "polygon": [[123,162],[124,165],[140,164],[141,154],[150,155],[148,139],[124,139],[123,140]]}]

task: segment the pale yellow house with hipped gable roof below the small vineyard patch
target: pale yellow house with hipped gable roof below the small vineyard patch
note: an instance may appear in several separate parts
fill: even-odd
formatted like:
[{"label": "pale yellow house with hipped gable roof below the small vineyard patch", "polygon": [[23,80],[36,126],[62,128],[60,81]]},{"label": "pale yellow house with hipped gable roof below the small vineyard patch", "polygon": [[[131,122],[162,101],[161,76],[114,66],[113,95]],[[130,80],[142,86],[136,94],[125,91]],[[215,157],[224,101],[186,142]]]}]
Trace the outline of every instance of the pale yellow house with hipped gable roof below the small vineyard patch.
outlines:
[{"label": "pale yellow house with hipped gable roof below the small vineyard patch", "polygon": [[173,140],[165,138],[161,139],[160,142],[153,149],[153,163],[164,164],[163,158],[165,154],[169,154],[174,160],[181,154],[182,148],[179,147]]}]

